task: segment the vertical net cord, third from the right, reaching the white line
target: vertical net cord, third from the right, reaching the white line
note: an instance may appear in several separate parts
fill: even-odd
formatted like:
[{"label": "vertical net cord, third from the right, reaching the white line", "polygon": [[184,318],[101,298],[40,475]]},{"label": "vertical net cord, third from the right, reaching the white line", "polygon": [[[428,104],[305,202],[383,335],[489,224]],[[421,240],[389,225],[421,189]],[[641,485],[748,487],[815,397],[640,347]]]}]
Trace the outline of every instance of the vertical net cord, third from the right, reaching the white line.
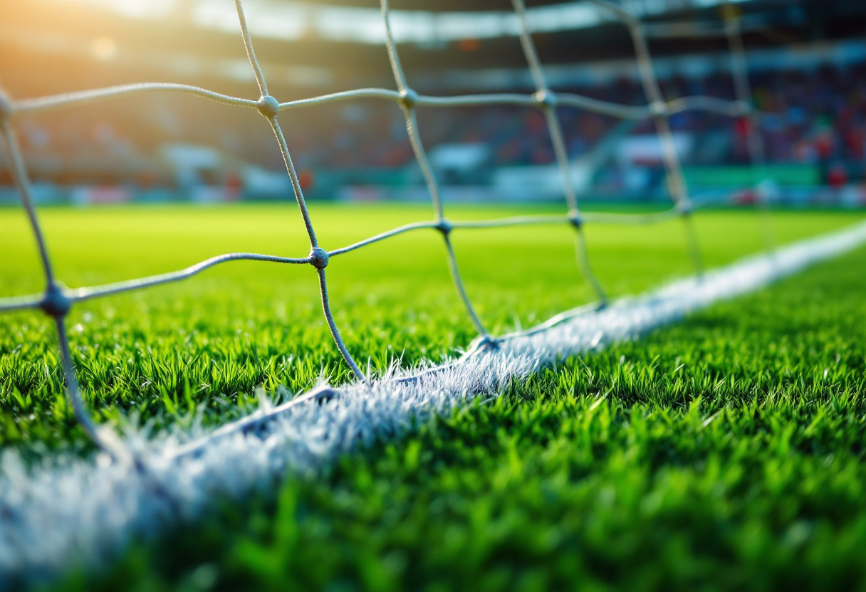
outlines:
[{"label": "vertical net cord, third from the right, reaching the white line", "polygon": [[574,182],[572,179],[571,167],[568,164],[568,152],[565,150],[565,139],[562,133],[562,125],[559,122],[559,115],[556,113],[556,100],[553,92],[547,87],[544,70],[541,68],[541,61],[538,52],[536,51],[533,37],[529,32],[526,5],[523,0],[511,0],[511,3],[514,6],[514,12],[517,13],[518,20],[520,21],[520,46],[523,48],[523,55],[527,58],[529,72],[533,77],[536,91],[535,97],[544,112],[547,130],[550,134],[551,144],[553,145],[553,154],[556,156],[556,162],[559,165],[559,174],[562,176],[563,190],[565,190],[565,203],[568,204],[568,215],[572,218],[572,226],[575,230],[574,248],[578,260],[578,267],[580,268],[580,272],[583,273],[585,280],[589,281],[592,289],[595,290],[599,304],[605,306],[607,304],[607,296],[604,293],[604,288],[601,286],[601,282],[598,281],[596,274],[592,271],[589,254],[586,249],[583,224],[580,220],[578,196],[574,191]]}]

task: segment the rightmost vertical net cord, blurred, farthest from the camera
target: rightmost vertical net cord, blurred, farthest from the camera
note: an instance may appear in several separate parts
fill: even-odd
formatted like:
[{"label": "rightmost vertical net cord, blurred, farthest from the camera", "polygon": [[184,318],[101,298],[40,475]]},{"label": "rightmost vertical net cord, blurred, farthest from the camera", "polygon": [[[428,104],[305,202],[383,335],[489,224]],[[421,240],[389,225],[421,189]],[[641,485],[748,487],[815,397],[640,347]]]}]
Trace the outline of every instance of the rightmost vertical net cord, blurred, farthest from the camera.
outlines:
[{"label": "rightmost vertical net cord, blurred, farthest from the camera", "polygon": [[767,252],[772,252],[776,246],[772,231],[772,216],[770,215],[769,196],[766,195],[765,181],[766,152],[764,150],[764,139],[761,138],[758,129],[758,119],[755,117],[755,109],[752,101],[752,87],[749,84],[749,72],[746,65],[746,47],[743,42],[742,30],[740,29],[740,16],[737,9],[731,5],[730,0],[725,0],[722,6],[722,15],[725,19],[725,35],[727,46],[731,54],[731,76],[734,79],[734,93],[740,105],[746,111],[746,143],[749,150],[749,160],[752,163],[752,185],[755,196],[755,207],[759,211],[762,235],[764,236],[764,247]]}]

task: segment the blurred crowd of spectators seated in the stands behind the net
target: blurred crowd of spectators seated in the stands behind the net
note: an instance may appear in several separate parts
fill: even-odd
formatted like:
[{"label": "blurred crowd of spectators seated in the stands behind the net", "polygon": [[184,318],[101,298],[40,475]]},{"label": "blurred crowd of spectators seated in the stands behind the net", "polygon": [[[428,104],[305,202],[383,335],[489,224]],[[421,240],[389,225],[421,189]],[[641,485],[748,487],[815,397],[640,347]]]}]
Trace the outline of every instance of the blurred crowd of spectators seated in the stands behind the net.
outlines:
[{"label": "blurred crowd of spectators seated in the stands behind the net", "polygon": [[[866,64],[844,70],[825,65],[812,71],[753,74],[753,100],[766,115],[759,129],[766,157],[776,163],[821,163],[830,174],[842,166],[848,176],[863,174],[866,150]],[[636,80],[604,86],[558,89],[626,105],[645,103]],[[689,95],[734,99],[727,73],[703,79],[662,80],[668,100]],[[74,116],[72,116],[74,114]],[[281,123],[302,171],[394,169],[413,160],[404,119],[397,106],[360,100],[306,107],[281,114]],[[560,117],[572,158],[611,132],[617,120],[562,108]],[[509,106],[428,108],[418,113],[428,147],[483,143],[490,166],[553,162],[543,115]],[[747,122],[713,113],[688,112],[671,118],[675,132],[691,132],[695,164],[748,161]],[[211,146],[227,161],[279,170],[281,157],[268,125],[253,110],[205,103],[190,97],[150,95],[122,103],[107,101],[74,112],[47,113],[18,125],[34,175],[55,183],[171,183],[160,178],[161,146],[168,143]],[[632,134],[652,133],[642,121]],[[859,171],[859,172],[858,172]],[[0,173],[0,183],[9,182]],[[205,182],[208,182],[205,179]],[[214,183],[220,183],[219,179]]]}]

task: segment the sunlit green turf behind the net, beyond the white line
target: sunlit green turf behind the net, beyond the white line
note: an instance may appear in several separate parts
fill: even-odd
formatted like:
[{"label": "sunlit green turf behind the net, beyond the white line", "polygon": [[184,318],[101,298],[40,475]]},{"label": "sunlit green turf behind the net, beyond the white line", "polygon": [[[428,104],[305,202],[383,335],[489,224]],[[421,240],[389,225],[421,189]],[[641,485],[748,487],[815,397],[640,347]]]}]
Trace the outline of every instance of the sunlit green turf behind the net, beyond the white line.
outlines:
[{"label": "sunlit green turf behind the net, beyond the white line", "polygon": [[[452,206],[452,219],[556,209]],[[429,206],[317,205],[320,243],[339,248],[406,222]],[[785,213],[780,242],[853,222],[850,213]],[[279,206],[44,209],[57,277],[71,287],[187,267],[231,251],[301,257],[309,243],[294,204]],[[708,266],[759,251],[751,210],[696,217]],[[20,209],[0,209],[0,294],[44,286]],[[611,295],[639,293],[691,273],[683,230],[587,226],[593,266]],[[469,297],[494,333],[547,319],[594,298],[574,259],[571,228],[458,230],[458,261]],[[331,304],[359,365],[375,373],[395,359],[438,360],[475,331],[457,298],[443,241],[433,230],[401,235],[327,267]],[[255,389],[283,396],[351,378],[325,325],[313,267],[231,262],[191,280],[75,306],[68,317],[81,389],[99,421],[188,418],[204,405],[220,423],[257,405]],[[120,413],[122,412],[122,414]],[[0,445],[87,446],[61,387],[54,329],[42,313],[0,317]]]}]

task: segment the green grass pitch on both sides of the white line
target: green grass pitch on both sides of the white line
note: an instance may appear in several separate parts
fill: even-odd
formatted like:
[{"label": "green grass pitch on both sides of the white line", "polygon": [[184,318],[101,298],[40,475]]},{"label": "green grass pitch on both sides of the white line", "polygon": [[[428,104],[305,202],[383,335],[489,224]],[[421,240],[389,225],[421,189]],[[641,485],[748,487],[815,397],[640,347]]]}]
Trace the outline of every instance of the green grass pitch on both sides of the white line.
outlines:
[{"label": "green grass pitch on both sides of the white line", "polygon": [[[470,220],[543,209],[450,207]],[[324,248],[423,206],[311,209]],[[289,205],[45,209],[70,287],[229,251],[302,257]],[[773,215],[780,244],[862,219]],[[696,216],[708,267],[763,247],[758,216]],[[23,212],[0,209],[0,293],[42,280]],[[586,227],[611,296],[692,273],[680,222]],[[457,230],[470,299],[496,333],[589,302],[572,231]],[[866,250],[716,305],[636,342],[564,360],[322,473],[139,542],[81,589],[866,589]],[[331,306],[366,370],[440,361],[475,332],[442,239],[420,230],[334,257]],[[309,266],[236,262],[81,303],[68,318],[98,421],[216,426],[324,377],[346,383]],[[93,454],[64,399],[48,319],[0,321],[0,441],[36,461]]]}]

